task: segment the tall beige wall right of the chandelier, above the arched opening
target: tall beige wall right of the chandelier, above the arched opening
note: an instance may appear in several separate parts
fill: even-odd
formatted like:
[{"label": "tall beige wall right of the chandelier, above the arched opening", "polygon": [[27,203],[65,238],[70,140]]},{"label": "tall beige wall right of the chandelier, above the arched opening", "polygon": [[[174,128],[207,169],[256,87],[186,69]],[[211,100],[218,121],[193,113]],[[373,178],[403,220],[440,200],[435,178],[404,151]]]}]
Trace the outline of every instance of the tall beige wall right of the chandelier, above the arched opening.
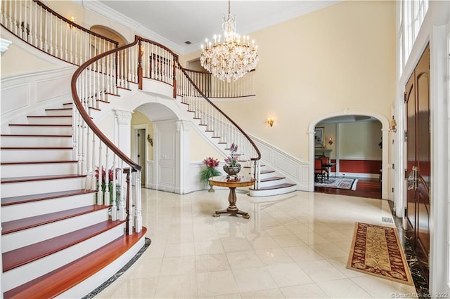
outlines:
[{"label": "tall beige wall right of the chandelier, above the arched opening", "polygon": [[[257,97],[217,103],[248,133],[309,161],[307,131],[314,119],[343,109],[390,119],[394,1],[343,1],[250,36],[259,46]],[[276,118],[270,129],[264,124],[269,116]]]}]

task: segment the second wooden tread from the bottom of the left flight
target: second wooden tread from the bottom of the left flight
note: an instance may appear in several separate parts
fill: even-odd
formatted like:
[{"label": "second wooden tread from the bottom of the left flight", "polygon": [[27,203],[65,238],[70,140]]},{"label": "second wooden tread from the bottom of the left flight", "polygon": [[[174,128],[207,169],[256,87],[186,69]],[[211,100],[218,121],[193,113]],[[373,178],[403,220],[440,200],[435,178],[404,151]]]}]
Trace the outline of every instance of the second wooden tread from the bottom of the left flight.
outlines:
[{"label": "second wooden tread from the bottom of the left flight", "polygon": [[39,258],[44,258],[45,256],[49,256],[65,248],[79,244],[82,241],[101,234],[102,232],[111,230],[124,222],[125,220],[105,220],[103,222],[96,223],[95,225],[84,227],[81,230],[68,232],[67,234],[62,234],[58,237],[53,237],[51,239],[3,253],[3,272],[26,265],[34,260],[39,260]]}]

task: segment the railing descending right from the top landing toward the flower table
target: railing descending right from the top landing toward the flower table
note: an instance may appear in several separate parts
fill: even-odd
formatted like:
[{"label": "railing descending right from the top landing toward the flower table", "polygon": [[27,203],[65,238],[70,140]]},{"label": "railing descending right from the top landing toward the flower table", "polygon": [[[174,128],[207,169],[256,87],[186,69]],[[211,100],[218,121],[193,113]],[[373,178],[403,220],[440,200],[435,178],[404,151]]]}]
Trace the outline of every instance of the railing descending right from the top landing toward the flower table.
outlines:
[{"label": "railing descending right from the top landing toward the flower table", "polygon": [[[181,97],[181,103],[187,105],[189,112],[193,113],[193,119],[198,119],[199,125],[205,127],[205,131],[210,133],[211,137],[217,140],[218,144],[224,145],[224,150],[229,150],[231,144],[238,145],[239,160],[241,163],[250,161],[250,175],[255,179],[255,188],[259,185],[259,160],[261,153],[252,139],[243,131],[236,122],[234,122],[228,115],[219,109],[210,99],[205,95],[205,92],[195,84],[194,78],[200,81],[207,81],[207,76],[200,75],[200,72],[193,72],[186,70],[181,66],[178,60],[178,55],[172,52],[169,48],[162,46],[154,41],[148,39],[139,39],[139,88],[143,88],[142,79],[149,78],[165,82],[173,86],[173,97],[177,95]],[[203,76],[203,77],[200,77]],[[214,80],[209,79],[214,83]],[[252,81],[252,77],[247,79]],[[248,86],[247,93],[250,93],[251,86],[248,81],[243,81],[240,86]],[[226,83],[225,83],[226,84]],[[219,87],[219,84],[215,84]],[[239,85],[236,85],[239,87]],[[224,92],[222,96],[231,98],[238,95],[236,86],[229,88],[229,91]],[[205,85],[203,86],[205,88]],[[210,92],[214,92],[209,88]],[[245,91],[245,88],[241,90]],[[241,93],[242,95],[243,93]],[[250,94],[249,94],[250,95]]]}]

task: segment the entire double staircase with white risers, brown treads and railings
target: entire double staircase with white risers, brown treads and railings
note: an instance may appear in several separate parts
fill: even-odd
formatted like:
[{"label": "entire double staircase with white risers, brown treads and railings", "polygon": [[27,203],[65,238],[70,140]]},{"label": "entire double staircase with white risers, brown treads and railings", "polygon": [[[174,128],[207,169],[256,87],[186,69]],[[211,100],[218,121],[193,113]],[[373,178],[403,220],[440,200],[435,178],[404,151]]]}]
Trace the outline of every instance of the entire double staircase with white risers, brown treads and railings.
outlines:
[{"label": "entire double staircase with white risers, brown treads and railings", "polygon": [[[25,20],[40,14],[42,9],[47,10],[39,1],[25,1],[25,7],[32,11],[20,11],[25,12],[25,18],[13,12],[17,7],[11,3],[1,5],[2,29],[30,44],[38,41],[32,45],[41,51],[58,57],[63,51],[58,51],[57,46],[64,44],[64,38],[66,46],[68,39],[72,39],[72,35],[63,36],[60,32],[55,37],[60,35],[61,41],[43,41],[42,36],[32,36],[38,30],[25,31],[20,27],[21,22],[13,19],[19,15],[18,20]],[[101,184],[94,176],[95,166],[115,168],[116,158],[122,159],[118,164],[125,172],[123,178],[121,174],[120,180],[113,180],[114,184],[116,179],[117,184],[122,183],[127,194],[131,191],[128,185],[124,186],[124,177],[129,184],[129,177],[134,173],[134,185],[139,186],[140,176],[132,161],[98,131],[93,118],[95,114],[105,113],[102,107],[113,102],[108,99],[121,93],[123,100],[135,88],[145,89],[149,81],[172,86],[173,98],[192,113],[192,121],[224,156],[231,142],[240,145],[239,154],[248,167],[246,171],[258,182],[250,188],[250,195],[262,197],[295,191],[294,183],[269,166],[259,164],[261,156],[254,142],[210,102],[172,51],[139,36],[134,43],[115,50],[113,41],[102,40],[50,12],[48,18],[54,18],[58,26],[66,22],[71,29],[79,30],[75,36],[87,34],[85,39],[79,39],[88,41],[86,47],[96,47],[89,43],[98,41],[98,50],[103,54],[96,56],[94,62],[89,60],[92,57],[66,54],[65,58],[70,58],[67,61],[72,64],[82,65],[87,61],[73,77],[73,100],[68,98],[60,107],[27,115],[27,121],[12,121],[8,130],[4,130],[6,133],[1,134],[1,291],[4,298],[81,298],[145,248],[147,230],[141,226],[139,188],[133,193],[134,202],[130,200],[126,206],[125,196],[118,206],[115,200],[112,203],[98,200],[102,192],[96,187]],[[142,53],[153,54],[143,57]],[[164,69],[158,65],[160,62],[167,62]],[[82,143],[93,137],[98,141],[99,151]],[[106,156],[96,157],[97,152],[102,152],[102,146]],[[113,154],[113,161],[108,161],[108,152]],[[124,168],[126,163],[132,168],[128,172]]]}]

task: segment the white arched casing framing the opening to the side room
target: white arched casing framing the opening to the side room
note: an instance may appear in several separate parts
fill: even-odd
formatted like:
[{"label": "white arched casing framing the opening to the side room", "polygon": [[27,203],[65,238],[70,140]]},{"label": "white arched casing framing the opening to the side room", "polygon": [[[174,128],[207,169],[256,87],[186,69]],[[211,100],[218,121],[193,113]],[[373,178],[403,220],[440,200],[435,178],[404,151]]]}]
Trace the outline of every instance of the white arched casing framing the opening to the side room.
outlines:
[{"label": "white arched casing framing the opening to the side room", "polygon": [[[329,114],[322,115],[320,117],[317,117],[316,119],[313,119],[311,123],[309,124],[309,191],[314,192],[314,158],[316,157],[316,142],[315,142],[315,129],[318,124],[321,124],[321,121],[325,121],[326,119],[338,119],[339,117],[345,118],[345,117],[371,117],[373,119],[376,119],[377,121],[380,121],[381,124],[381,138],[385,140],[384,145],[380,150],[382,151],[381,157],[382,157],[382,173],[381,173],[381,181],[382,181],[382,187],[381,187],[381,198],[382,199],[388,199],[389,198],[389,192],[388,187],[390,184],[387,183],[388,178],[390,177],[390,168],[389,166],[389,153],[390,153],[390,142],[387,142],[390,140],[389,136],[389,121],[383,114],[379,114],[377,112],[370,112],[370,111],[361,111],[361,110],[352,110],[352,109],[345,109],[343,111],[338,112],[332,112]],[[325,138],[329,138],[330,136],[325,136]],[[333,136],[331,136],[333,137]],[[328,139],[327,139],[328,140]],[[324,140],[326,142],[326,140]],[[378,141],[380,142],[380,140]],[[378,143],[377,142],[377,143]]]}]

